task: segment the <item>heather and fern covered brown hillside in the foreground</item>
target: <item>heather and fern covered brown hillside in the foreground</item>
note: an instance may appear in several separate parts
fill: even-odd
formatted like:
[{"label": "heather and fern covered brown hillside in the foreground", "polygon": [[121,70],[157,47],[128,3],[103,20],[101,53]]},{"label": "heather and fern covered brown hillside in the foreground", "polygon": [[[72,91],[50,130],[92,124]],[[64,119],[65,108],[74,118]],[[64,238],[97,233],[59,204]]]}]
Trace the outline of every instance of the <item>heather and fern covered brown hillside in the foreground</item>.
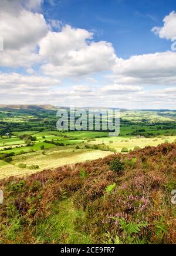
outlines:
[{"label": "heather and fern covered brown hillside in the foreground", "polygon": [[174,244],[176,144],[0,182],[0,242]]}]

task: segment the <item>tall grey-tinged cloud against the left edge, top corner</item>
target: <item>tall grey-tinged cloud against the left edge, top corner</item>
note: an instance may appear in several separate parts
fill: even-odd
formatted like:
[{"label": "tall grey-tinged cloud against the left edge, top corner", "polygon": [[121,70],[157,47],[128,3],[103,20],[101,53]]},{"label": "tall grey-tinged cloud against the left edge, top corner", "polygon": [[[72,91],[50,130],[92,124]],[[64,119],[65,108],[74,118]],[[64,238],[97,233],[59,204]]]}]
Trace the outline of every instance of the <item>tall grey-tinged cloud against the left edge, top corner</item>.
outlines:
[{"label": "tall grey-tinged cloud against the left edge, top corner", "polygon": [[[42,14],[24,9],[21,4],[22,1],[17,0],[2,0],[0,4],[0,35],[4,39],[2,66],[29,66],[41,60],[36,46],[48,33],[48,25]],[[33,5],[32,1],[26,4]]]}]

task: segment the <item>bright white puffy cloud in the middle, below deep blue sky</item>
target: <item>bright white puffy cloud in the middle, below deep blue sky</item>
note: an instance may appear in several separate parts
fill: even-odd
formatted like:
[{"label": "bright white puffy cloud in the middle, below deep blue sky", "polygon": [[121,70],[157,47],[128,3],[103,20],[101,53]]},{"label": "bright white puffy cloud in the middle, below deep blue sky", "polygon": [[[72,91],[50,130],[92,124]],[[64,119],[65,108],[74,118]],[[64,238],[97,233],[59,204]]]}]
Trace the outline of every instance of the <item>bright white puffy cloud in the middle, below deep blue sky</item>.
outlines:
[{"label": "bright white puffy cloud in the middle, below deep blue sky", "polygon": [[48,59],[42,71],[56,77],[76,77],[111,70],[116,59],[109,42],[91,41],[93,34],[69,25],[50,31],[40,42],[39,55]]}]

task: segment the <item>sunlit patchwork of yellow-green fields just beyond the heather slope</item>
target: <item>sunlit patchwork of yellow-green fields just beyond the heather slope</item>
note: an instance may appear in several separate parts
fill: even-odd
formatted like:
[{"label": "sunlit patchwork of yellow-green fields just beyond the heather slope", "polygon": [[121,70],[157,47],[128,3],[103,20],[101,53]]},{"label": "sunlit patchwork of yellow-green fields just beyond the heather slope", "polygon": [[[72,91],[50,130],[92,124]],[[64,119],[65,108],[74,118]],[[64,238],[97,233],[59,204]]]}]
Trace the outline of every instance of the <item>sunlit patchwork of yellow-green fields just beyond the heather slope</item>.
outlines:
[{"label": "sunlit patchwork of yellow-green fields just beyond the heather slope", "polygon": [[[176,136],[160,136],[155,138],[127,136],[102,137],[91,140],[90,138],[102,135],[100,133],[96,134],[96,132],[92,132],[92,134],[90,134],[90,132],[87,132],[87,134],[86,132],[74,132],[70,136],[74,139],[63,139],[61,136],[56,136],[58,132],[54,133],[55,135],[51,135],[50,133],[52,132],[40,132],[35,134],[36,141],[32,147],[26,146],[25,142],[19,140],[17,137],[1,139],[1,145],[4,144],[4,146],[0,148],[0,153],[11,154],[13,152],[14,155],[12,156],[12,161],[9,163],[0,160],[0,179],[8,178],[13,175],[25,176],[42,171],[43,169],[52,169],[62,165],[103,158],[113,154],[114,151],[121,152],[123,148],[130,151],[136,147],[144,148],[147,145],[156,146],[164,142],[174,142],[176,140]],[[28,134],[31,133],[28,132]],[[19,135],[21,135],[21,133],[16,133],[16,136]],[[69,135],[69,132],[67,132],[66,136]],[[45,138],[43,138],[43,136]],[[44,142],[46,139],[52,141],[52,143],[59,141],[59,143],[63,143],[63,145],[56,146],[55,144],[46,143]],[[19,142],[21,144],[19,144]],[[9,145],[11,145],[11,149],[8,149]],[[23,145],[23,147],[19,147],[19,145]],[[96,145],[102,148],[96,148]],[[104,148],[104,146],[108,146],[109,148]],[[6,150],[3,150],[5,147]],[[41,147],[44,148],[41,149]],[[19,164],[23,164],[25,167],[21,168]],[[38,165],[38,168],[30,169],[29,167],[31,167],[31,165]]]}]

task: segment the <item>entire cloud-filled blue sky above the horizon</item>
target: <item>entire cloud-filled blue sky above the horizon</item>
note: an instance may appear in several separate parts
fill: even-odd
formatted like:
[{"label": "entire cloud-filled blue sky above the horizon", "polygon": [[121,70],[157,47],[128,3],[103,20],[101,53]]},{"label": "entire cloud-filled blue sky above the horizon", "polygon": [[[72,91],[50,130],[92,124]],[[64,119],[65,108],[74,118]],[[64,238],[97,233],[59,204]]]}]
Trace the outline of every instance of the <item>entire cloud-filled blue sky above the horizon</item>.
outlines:
[{"label": "entire cloud-filled blue sky above the horizon", "polygon": [[0,97],[176,109],[176,3],[1,0]]}]

